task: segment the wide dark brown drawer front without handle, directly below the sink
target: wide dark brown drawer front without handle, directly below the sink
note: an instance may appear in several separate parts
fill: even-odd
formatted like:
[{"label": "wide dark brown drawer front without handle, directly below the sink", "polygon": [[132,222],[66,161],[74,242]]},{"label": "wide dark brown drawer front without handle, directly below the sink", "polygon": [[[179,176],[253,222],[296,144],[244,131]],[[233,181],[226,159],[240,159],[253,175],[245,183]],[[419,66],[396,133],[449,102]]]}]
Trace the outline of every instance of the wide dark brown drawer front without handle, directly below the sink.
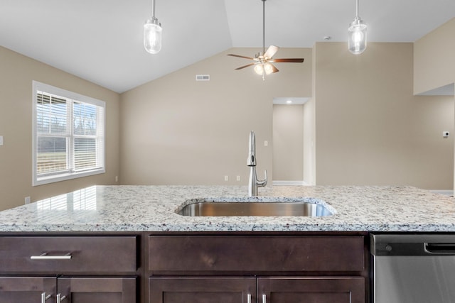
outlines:
[{"label": "wide dark brown drawer front without handle, directly below the sink", "polygon": [[363,236],[149,236],[152,272],[352,272]]}]

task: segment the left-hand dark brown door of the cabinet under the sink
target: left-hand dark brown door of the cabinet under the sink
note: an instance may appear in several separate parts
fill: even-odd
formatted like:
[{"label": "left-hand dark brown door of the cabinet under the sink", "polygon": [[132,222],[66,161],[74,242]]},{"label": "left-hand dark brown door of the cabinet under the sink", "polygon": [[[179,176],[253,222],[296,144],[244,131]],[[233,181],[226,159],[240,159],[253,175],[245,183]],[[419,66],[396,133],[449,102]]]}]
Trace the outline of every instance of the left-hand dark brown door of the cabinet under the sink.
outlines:
[{"label": "left-hand dark brown door of the cabinet under the sink", "polygon": [[149,303],[256,302],[254,277],[152,277]]}]

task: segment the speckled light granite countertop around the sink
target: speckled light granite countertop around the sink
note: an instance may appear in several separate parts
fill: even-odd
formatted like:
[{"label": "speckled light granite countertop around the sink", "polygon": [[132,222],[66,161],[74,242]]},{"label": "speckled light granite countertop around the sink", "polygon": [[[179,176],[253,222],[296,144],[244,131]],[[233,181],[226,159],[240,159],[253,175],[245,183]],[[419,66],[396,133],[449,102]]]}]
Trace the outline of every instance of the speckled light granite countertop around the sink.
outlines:
[{"label": "speckled light granite countertop around the sink", "polygon": [[259,197],[311,197],[335,214],[189,217],[191,199],[233,199],[247,187],[95,186],[0,211],[0,232],[73,231],[410,231],[455,232],[455,199],[415,187],[259,188]]}]

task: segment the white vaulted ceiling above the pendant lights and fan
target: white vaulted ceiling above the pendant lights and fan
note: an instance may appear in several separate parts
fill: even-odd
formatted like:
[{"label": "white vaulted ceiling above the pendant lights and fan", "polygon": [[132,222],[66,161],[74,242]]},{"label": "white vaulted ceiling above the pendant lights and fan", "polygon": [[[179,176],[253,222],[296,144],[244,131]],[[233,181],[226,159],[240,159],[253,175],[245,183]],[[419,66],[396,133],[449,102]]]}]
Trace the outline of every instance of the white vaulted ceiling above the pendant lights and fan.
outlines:
[{"label": "white vaulted ceiling above the pendant lights and fan", "polygon": [[[115,92],[229,48],[262,47],[261,0],[156,0],[158,55],[142,46],[150,15],[151,0],[0,0],[0,45]],[[369,42],[414,42],[454,18],[455,1],[360,0],[359,15]],[[346,41],[354,17],[355,0],[267,0],[266,48]]]}]

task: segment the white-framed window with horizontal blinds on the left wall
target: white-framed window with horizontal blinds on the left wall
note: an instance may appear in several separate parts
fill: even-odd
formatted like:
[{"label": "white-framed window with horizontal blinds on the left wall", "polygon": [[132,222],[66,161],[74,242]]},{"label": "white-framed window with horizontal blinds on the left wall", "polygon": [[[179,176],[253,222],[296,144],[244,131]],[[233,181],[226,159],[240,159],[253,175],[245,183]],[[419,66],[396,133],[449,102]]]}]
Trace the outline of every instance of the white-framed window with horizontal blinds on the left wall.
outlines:
[{"label": "white-framed window with horizontal blinds on the left wall", "polygon": [[105,102],[33,81],[33,186],[105,172]]}]

